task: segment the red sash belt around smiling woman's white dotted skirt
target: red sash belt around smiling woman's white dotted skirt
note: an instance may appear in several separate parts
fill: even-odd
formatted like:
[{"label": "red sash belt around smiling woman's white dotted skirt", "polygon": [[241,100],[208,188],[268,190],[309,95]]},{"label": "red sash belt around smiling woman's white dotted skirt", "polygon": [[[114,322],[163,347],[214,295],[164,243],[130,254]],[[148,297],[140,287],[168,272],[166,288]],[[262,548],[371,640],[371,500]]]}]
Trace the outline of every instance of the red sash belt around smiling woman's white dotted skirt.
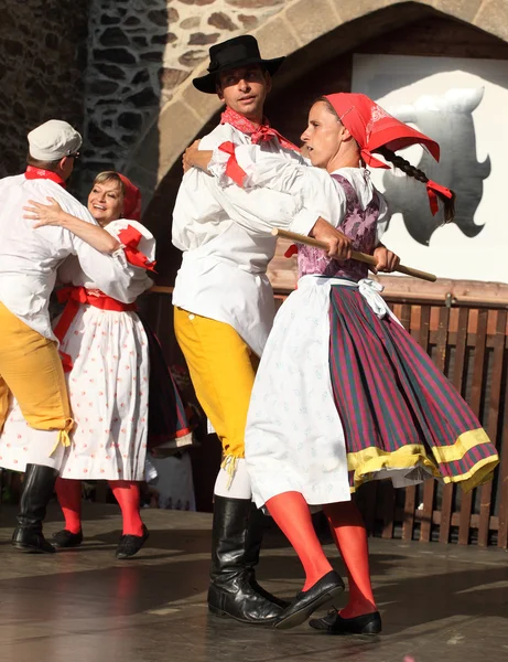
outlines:
[{"label": "red sash belt around smiling woman's white dotted skirt", "polygon": [[[60,342],[64,340],[79,310],[79,306],[83,303],[88,303],[89,306],[94,306],[94,308],[100,308],[100,310],[115,310],[117,312],[136,310],[136,303],[122,303],[122,301],[118,301],[112,297],[104,295],[100,290],[87,290],[85,287],[64,287],[56,292],[56,297],[61,303],[67,301],[64,312],[53,330]],[[69,372],[73,367],[71,356],[65,352],[62,352],[62,350],[60,351],[60,355],[62,356],[64,372]]]}]

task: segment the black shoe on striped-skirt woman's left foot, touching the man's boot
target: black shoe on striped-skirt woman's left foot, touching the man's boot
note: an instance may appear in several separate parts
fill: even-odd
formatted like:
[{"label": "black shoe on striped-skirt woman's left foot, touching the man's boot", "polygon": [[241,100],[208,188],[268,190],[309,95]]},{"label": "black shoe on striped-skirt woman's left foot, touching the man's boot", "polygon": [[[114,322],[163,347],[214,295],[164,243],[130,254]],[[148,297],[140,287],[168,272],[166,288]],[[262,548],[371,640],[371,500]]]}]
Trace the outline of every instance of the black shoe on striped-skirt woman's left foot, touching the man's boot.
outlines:
[{"label": "black shoe on striped-skirt woman's left foot, touching the man's boot", "polygon": [[304,623],[320,607],[332,602],[344,590],[344,581],[335,570],[326,573],[307,590],[298,594],[291,605],[282,611],[274,624],[279,630],[288,630]]}]

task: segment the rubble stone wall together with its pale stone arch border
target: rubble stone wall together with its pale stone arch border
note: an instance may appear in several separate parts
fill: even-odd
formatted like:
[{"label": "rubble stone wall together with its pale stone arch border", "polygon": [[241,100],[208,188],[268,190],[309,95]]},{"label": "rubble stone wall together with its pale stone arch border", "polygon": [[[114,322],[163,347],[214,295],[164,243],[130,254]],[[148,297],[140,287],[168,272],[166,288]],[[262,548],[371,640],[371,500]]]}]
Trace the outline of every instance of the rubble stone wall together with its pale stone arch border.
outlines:
[{"label": "rubble stone wall together with its pale stone arch border", "polygon": [[87,72],[89,174],[116,167],[144,203],[218,109],[196,93],[208,46],[250,32],[262,53],[290,57],[278,83],[338,53],[441,14],[508,40],[506,0],[93,0]]}]

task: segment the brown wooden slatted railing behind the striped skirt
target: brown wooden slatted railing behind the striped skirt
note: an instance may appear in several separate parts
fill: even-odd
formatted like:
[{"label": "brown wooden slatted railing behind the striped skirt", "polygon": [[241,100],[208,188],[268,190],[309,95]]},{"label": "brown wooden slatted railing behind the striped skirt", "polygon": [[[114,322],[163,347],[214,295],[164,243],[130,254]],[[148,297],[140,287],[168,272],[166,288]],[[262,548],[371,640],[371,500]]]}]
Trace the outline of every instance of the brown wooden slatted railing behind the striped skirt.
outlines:
[{"label": "brown wooden slatted railing behind the striped skirt", "polygon": [[[156,288],[152,320],[167,338],[171,288]],[[287,293],[275,295],[278,305]],[[388,295],[408,331],[468,402],[501,458],[495,480],[473,492],[434,480],[404,490],[374,481],[358,491],[372,535],[508,547],[508,300],[442,293]],[[162,323],[162,324],[161,324]]]}]

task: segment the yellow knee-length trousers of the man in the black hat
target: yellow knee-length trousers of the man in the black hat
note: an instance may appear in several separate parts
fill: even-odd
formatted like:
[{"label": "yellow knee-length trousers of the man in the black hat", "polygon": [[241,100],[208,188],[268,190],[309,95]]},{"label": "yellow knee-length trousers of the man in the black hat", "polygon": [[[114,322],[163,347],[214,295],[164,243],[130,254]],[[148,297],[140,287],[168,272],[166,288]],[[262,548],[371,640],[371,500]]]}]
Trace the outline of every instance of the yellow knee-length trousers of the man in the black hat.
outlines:
[{"label": "yellow knee-length trousers of the man in the black hat", "polygon": [[174,309],[176,340],[197,399],[233,458],[245,457],[245,428],[256,355],[233,327]]}]

